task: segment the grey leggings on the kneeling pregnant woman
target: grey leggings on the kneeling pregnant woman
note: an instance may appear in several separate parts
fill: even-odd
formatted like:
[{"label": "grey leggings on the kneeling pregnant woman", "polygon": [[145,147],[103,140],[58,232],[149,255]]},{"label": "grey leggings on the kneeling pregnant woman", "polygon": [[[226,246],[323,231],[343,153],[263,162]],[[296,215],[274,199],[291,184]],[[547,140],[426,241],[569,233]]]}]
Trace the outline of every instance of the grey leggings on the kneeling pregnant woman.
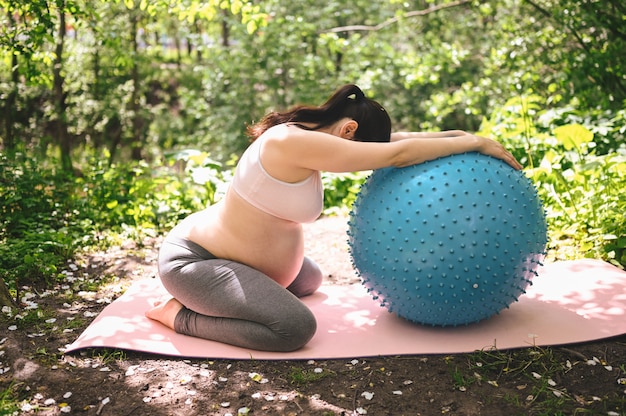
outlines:
[{"label": "grey leggings on the kneeling pregnant woman", "polygon": [[255,350],[294,351],[317,328],[298,299],[322,283],[319,267],[308,258],[285,289],[256,269],[170,236],[159,252],[159,274],[167,291],[185,306],[174,322],[178,333]]}]

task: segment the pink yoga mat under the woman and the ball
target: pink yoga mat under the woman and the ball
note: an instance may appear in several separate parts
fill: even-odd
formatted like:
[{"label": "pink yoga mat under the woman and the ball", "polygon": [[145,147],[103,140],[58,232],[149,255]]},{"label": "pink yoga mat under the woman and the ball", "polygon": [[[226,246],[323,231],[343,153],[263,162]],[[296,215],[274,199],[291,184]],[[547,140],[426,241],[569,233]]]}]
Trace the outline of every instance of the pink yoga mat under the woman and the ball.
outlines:
[{"label": "pink yoga mat under the woman and the ball", "polygon": [[304,299],[317,317],[317,333],[291,353],[254,351],[176,334],[144,317],[164,293],[158,279],[136,282],[66,352],[108,347],[213,359],[331,359],[562,345],[626,334],[626,272],[598,260],[547,264],[519,302],[488,320],[455,328],[398,318],[359,284],[325,285]]}]

